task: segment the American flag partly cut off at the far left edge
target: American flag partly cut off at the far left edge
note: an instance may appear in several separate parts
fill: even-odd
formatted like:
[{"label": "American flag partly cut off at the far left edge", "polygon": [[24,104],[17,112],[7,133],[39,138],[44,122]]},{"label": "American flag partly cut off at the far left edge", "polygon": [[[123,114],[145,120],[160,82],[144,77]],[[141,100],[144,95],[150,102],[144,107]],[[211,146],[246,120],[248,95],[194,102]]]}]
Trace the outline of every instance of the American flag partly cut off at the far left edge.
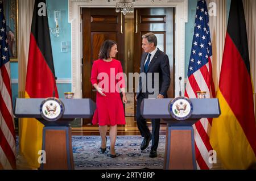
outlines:
[{"label": "American flag partly cut off at the far left edge", "polygon": [[10,58],[3,1],[0,1],[0,169],[1,167],[16,168]]}]

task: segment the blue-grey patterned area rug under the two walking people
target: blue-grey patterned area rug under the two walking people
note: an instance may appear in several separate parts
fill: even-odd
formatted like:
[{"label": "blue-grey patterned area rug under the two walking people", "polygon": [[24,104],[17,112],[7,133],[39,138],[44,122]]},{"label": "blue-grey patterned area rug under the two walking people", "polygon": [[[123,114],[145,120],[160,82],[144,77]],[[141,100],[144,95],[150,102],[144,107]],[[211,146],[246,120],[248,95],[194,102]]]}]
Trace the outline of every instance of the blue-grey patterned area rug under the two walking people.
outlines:
[{"label": "blue-grey patterned area rug under the two walking people", "polygon": [[75,169],[163,169],[166,136],[160,136],[158,157],[150,158],[150,145],[141,151],[141,136],[118,136],[116,158],[109,157],[110,140],[104,154],[100,136],[72,136]]}]

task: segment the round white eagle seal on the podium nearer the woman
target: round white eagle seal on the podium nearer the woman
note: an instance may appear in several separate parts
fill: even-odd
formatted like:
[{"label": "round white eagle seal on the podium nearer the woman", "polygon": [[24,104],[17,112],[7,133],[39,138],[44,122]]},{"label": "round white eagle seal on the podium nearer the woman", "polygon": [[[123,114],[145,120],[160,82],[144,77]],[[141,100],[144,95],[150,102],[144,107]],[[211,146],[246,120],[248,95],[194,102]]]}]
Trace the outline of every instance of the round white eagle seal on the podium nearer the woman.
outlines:
[{"label": "round white eagle seal on the podium nearer the woman", "polygon": [[57,98],[47,98],[40,105],[40,113],[44,120],[57,121],[64,113],[64,104]]}]

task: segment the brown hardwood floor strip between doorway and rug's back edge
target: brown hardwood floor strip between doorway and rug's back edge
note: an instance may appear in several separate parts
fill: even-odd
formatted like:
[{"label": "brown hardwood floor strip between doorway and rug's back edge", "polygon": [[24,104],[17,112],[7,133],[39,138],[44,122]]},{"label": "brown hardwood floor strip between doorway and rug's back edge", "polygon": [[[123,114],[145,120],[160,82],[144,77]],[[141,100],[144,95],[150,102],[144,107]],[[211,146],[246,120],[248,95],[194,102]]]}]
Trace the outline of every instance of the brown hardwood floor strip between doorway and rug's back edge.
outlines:
[{"label": "brown hardwood floor strip between doorway and rug's back edge", "polygon": [[[148,128],[152,131],[151,121],[147,122]],[[108,133],[109,134],[109,133]],[[81,128],[72,128],[73,136],[90,136],[100,135],[98,125],[86,125]],[[126,117],[126,125],[118,126],[117,135],[141,135],[137,128],[137,123],[134,117]],[[160,125],[160,135],[166,135],[166,124]]]}]

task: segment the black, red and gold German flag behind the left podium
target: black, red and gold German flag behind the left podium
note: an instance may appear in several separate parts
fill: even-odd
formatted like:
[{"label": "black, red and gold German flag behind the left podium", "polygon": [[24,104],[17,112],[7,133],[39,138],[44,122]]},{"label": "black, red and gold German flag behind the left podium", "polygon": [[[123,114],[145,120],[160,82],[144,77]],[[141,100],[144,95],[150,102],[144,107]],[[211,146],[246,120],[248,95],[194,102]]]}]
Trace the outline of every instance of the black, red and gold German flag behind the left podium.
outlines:
[{"label": "black, red and gold German flag behind the left podium", "polygon": [[[51,39],[49,36],[46,1],[36,0],[28,53],[26,98],[58,98],[53,66]],[[36,119],[23,119],[21,127],[22,155],[31,168],[37,169],[38,151],[42,150],[44,125]]]}]

